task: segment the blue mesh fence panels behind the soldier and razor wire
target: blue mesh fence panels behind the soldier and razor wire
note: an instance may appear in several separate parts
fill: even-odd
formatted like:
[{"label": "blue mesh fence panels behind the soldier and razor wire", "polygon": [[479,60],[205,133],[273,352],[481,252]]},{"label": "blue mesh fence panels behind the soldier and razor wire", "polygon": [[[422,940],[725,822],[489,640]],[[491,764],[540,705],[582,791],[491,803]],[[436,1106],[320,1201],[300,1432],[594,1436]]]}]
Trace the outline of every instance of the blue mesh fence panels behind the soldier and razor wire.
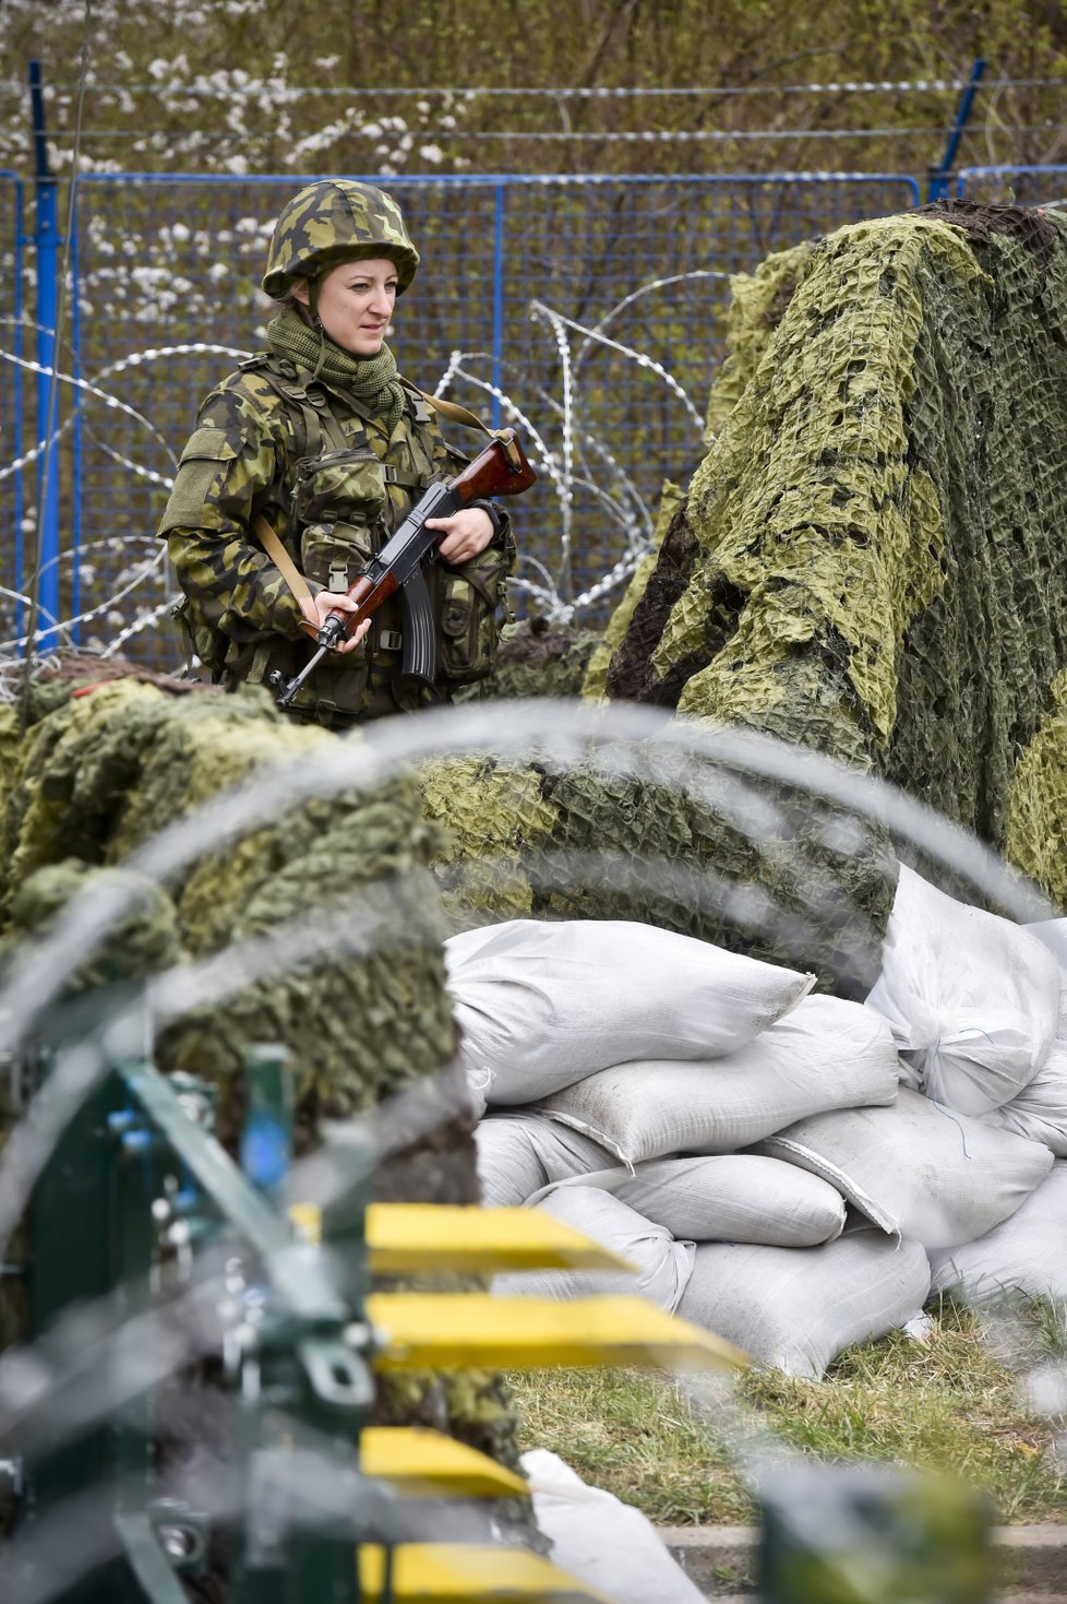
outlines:
[{"label": "blue mesh fence panels behind the soldier and razor wire", "polygon": [[[119,375],[106,374],[101,382],[127,411],[106,411],[83,393],[72,403],[64,388],[64,484],[58,516],[45,531],[45,563],[54,573],[62,568],[64,608],[75,614],[82,602],[91,608],[133,585],[130,600],[103,624],[87,622],[90,643],[114,637],[138,611],[162,611],[170,590],[165,568],[139,581],[136,563],[155,552],[152,531],[173,452],[192,427],[197,403],[232,367],[232,358],[208,346],[244,351],[263,343],[269,310],[253,279],[272,217],[304,181],[290,173],[93,173],[77,183],[69,371],[99,379],[103,369],[120,364]],[[729,274],[798,239],[921,200],[920,180],[899,173],[401,175],[386,183],[425,257],[399,308],[394,345],[402,367],[429,388],[453,350],[476,353],[466,363],[468,377],[453,379],[449,393],[493,422],[509,415],[506,395],[540,427],[548,460],[517,521],[527,579],[551,571],[564,600],[596,590],[598,577],[633,552],[636,523],[620,533],[609,504],[633,491],[633,507],[646,516],[662,478],[686,481],[700,459],[692,415],[660,369],[679,380],[695,404],[691,411],[700,412]],[[1054,204],[1067,199],[1067,165],[969,167],[953,188],[979,200]],[[13,223],[5,242],[8,202]],[[21,354],[18,319],[27,311],[21,209],[18,175],[0,173],[0,252],[16,284],[13,354]],[[658,279],[670,287],[658,289]],[[567,456],[559,422],[564,356],[551,330],[529,322],[534,300],[586,330],[610,314],[615,342],[612,348],[590,345],[585,335],[567,332],[570,379],[577,374],[582,390],[567,449],[572,467],[586,452],[586,480],[598,467],[609,475],[610,494],[585,483],[575,468],[566,512],[553,481]],[[199,350],[163,364],[131,361],[165,345]],[[623,348],[647,361],[625,356]],[[13,367],[13,374],[0,406],[14,457],[32,431],[27,398],[35,387],[24,390],[22,371]],[[582,430],[593,435],[596,449],[586,449]],[[3,569],[11,590],[24,577],[26,494],[21,473],[0,481],[0,507],[14,531]],[[588,602],[585,616],[596,616],[614,593]],[[5,606],[18,627],[18,613],[11,614],[10,602]],[[159,661],[159,640],[143,654]]]}]

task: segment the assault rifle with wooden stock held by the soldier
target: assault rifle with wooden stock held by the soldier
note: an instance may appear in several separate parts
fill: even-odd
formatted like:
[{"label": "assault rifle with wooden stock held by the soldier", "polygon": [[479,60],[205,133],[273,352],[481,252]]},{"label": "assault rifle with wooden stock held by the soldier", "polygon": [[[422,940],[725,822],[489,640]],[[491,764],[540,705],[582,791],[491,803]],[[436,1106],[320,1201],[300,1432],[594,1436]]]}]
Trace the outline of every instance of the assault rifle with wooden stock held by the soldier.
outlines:
[{"label": "assault rifle with wooden stock held by the soldier", "polygon": [[441,531],[428,529],[428,518],[449,518],[473,500],[487,496],[517,496],[534,484],[537,475],[525,459],[519,436],[513,428],[501,428],[489,446],[461,473],[429,489],[412,507],[404,523],[389,542],[372,557],[348,595],[357,603],[354,613],[332,613],[317,632],[319,650],[314,658],[287,680],[280,670],[268,675],[277,693],[279,707],[288,707],[304,680],[314,674],[327,651],[354,634],[365,618],[378,611],[383,602],[399,590],[404,635],[401,669],[417,678],[433,683],[437,667],[437,637],[429,606],[429,590],[423,573],[423,558],[433,561],[437,555]]}]

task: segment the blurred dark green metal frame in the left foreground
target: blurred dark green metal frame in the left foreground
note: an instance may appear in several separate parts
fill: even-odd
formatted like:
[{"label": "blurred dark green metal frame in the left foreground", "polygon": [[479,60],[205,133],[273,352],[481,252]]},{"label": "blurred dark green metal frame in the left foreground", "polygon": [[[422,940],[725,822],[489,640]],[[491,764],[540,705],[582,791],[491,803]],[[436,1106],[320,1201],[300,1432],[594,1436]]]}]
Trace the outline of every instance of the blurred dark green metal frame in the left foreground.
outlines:
[{"label": "blurred dark green metal frame in the left foreground", "polygon": [[[128,1007],[128,1001],[125,1003]],[[114,1022],[115,999],[109,1019]],[[98,1012],[91,1031],[106,1075],[51,1153],[29,1211],[29,1336],[40,1338],[79,1302],[114,1298],[144,1307],[149,1288],[197,1274],[207,1248],[234,1243],[240,1261],[242,1341],[234,1363],[239,1480],[255,1489],[301,1448],[359,1489],[359,1434],[373,1400],[367,1291],[365,1189],[370,1163],[324,1213],[322,1246],[301,1243],[285,1209],[292,1092],[285,1051],[256,1047],[245,1063],[247,1120],[239,1168],[211,1132],[215,1092],[192,1076],[162,1076],[147,1051],[112,1055]],[[66,1051],[42,1055],[42,1078]],[[147,1031],[139,1033],[147,1041]],[[127,1041],[130,1031],[125,1031]],[[138,1031],[133,1031],[136,1039]],[[343,1270],[343,1274],[341,1274]],[[232,1280],[232,1277],[231,1277]],[[232,1288],[227,1294],[232,1304]],[[240,1301],[244,1298],[244,1302]],[[147,1387],[77,1440],[24,1466],[19,1525],[30,1529],[69,1500],[106,1489],[120,1557],[79,1582],[61,1604],[181,1604],[179,1572],[205,1564],[218,1514],[162,1497],[154,1463],[154,1391]],[[48,1405],[45,1405],[48,1407]],[[234,1604],[357,1604],[359,1540],[393,1541],[388,1497],[373,1484],[351,1516],[316,1521],[298,1495],[223,1517]],[[385,1514],[383,1514],[385,1511]]]}]

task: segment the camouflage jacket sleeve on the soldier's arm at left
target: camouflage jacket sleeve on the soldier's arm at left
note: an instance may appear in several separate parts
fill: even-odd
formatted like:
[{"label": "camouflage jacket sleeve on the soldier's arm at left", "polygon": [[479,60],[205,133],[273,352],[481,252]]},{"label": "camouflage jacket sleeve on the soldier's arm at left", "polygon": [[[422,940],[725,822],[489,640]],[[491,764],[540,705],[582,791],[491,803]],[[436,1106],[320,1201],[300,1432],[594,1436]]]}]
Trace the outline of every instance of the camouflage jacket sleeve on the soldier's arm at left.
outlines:
[{"label": "camouflage jacket sleeve on the soldier's arm at left", "polygon": [[[213,391],[159,526],[181,589],[207,624],[239,645],[301,634],[296,598],[252,536],[263,513],[285,541],[284,428],[274,391],[255,374]],[[320,589],[309,582],[312,593]]]}]

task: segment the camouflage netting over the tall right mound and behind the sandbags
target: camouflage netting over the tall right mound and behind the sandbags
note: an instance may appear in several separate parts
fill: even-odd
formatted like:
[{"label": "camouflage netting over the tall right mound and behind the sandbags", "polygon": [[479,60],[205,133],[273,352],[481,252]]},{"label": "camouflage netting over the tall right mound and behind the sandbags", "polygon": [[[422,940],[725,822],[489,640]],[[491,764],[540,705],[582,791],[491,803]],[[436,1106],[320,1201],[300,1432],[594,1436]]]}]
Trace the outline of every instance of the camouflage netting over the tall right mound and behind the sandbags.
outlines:
[{"label": "camouflage netting over the tall right mound and behind the sandbags", "polygon": [[[609,699],[740,725],[873,770],[976,831],[1061,903],[1067,885],[1067,220],[953,204],[840,229],[735,281],[710,449],[655,566],[628,592]],[[588,691],[596,695],[596,659]],[[493,786],[501,786],[498,770]],[[658,784],[551,764],[513,770],[534,913],[633,914],[862,993],[892,893],[889,842],[836,850],[833,821],[772,794],[780,850]],[[540,813],[553,810],[551,824]],[[449,889],[477,786],[455,799]],[[517,816],[517,810],[516,810]],[[838,821],[840,823],[840,821]],[[830,824],[830,828],[827,828]],[[505,823],[493,821],[505,840]],[[791,840],[788,839],[791,837]],[[610,847],[649,863],[543,890],[537,855]],[[795,849],[790,857],[790,847]],[[532,849],[532,850],[530,850]],[[707,865],[820,935],[735,932],[666,897],[662,865]],[[521,874],[509,865],[511,903]],[[814,884],[814,882],[812,882]],[[473,901],[485,876],[473,879]],[[807,950],[799,950],[807,942]]]}]

